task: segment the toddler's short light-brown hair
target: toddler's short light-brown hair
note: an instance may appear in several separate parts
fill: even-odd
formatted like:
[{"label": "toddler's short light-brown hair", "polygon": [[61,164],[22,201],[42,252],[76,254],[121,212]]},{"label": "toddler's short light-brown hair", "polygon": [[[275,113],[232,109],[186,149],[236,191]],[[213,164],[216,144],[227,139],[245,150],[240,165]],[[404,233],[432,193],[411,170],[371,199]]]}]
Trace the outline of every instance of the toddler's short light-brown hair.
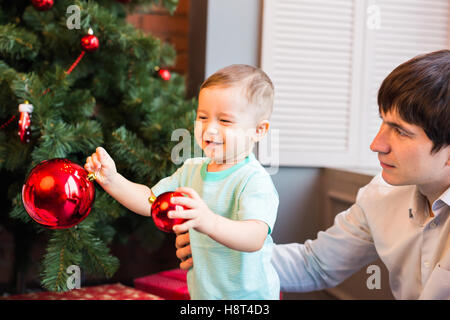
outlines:
[{"label": "toddler's short light-brown hair", "polygon": [[215,86],[243,86],[247,102],[258,108],[258,117],[269,119],[272,114],[274,87],[270,78],[260,68],[246,64],[233,64],[222,68],[202,83],[200,91]]}]

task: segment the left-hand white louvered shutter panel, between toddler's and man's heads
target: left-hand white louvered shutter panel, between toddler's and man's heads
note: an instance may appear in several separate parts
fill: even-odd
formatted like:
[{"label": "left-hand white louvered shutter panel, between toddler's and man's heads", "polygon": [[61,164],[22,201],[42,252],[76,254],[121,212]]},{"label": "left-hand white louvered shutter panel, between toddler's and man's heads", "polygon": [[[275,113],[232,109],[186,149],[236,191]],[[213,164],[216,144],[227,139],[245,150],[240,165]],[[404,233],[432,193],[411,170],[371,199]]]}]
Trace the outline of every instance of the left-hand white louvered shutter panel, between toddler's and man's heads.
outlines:
[{"label": "left-hand white louvered shutter panel, between toddler's and man's heads", "polygon": [[261,67],[275,85],[272,133],[259,159],[284,166],[344,165],[356,154],[352,101],[355,5],[351,0],[266,0]]}]

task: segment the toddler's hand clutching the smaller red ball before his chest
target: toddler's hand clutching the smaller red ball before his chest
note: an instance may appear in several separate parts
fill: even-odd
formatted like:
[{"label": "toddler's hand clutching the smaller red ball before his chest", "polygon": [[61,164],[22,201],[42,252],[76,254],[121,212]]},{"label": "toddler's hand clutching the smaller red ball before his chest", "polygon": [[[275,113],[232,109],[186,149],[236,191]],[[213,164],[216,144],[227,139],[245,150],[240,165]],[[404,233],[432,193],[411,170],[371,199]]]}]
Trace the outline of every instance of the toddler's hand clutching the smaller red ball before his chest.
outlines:
[{"label": "toddler's hand clutching the smaller red ball before his chest", "polygon": [[185,206],[185,210],[169,211],[168,217],[188,219],[183,224],[175,225],[173,231],[177,234],[184,233],[190,228],[209,235],[215,228],[216,214],[212,212],[198,193],[187,187],[177,188],[177,192],[186,194],[188,197],[173,197],[171,202]]}]

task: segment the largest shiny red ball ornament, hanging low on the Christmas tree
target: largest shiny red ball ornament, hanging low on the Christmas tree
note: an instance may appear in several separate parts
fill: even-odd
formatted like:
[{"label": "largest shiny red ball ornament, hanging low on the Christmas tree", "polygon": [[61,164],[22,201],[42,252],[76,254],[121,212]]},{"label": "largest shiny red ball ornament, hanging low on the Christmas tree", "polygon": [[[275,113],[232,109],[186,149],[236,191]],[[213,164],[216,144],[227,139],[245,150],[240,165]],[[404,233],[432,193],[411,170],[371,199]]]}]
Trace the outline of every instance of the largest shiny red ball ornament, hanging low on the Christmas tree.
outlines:
[{"label": "largest shiny red ball ornament, hanging low on the Christmas tree", "polygon": [[95,198],[88,172],[67,159],[45,160],[35,166],[22,188],[25,210],[37,223],[64,229],[83,221]]}]

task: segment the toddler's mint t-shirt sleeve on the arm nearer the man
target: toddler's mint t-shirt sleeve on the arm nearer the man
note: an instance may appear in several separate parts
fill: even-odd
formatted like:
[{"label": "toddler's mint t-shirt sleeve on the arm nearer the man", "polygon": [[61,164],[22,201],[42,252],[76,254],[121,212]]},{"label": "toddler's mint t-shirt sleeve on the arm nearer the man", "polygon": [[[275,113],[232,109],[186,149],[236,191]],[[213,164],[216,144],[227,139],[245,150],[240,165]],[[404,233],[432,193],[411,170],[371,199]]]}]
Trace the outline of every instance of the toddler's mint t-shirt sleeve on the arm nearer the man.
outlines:
[{"label": "toddler's mint t-shirt sleeve on the arm nearer the man", "polygon": [[239,220],[260,220],[272,233],[277,218],[279,198],[269,175],[257,175],[249,179],[239,196]]}]

